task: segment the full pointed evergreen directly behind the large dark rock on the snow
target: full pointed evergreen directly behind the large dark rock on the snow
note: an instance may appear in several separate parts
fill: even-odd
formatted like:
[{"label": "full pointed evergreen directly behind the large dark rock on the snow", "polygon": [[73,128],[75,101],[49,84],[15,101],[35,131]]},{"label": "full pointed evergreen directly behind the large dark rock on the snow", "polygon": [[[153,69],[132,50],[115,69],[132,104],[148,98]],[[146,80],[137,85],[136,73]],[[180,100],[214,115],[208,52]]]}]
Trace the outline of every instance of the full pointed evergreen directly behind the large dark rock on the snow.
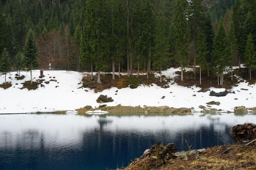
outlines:
[{"label": "full pointed evergreen directly behind the large dark rock on the snow", "polygon": [[215,71],[218,76],[218,84],[220,77],[220,85],[223,85],[223,72],[226,70],[226,66],[230,65],[230,53],[228,47],[227,36],[223,27],[222,19],[220,19],[220,29],[214,39],[214,45],[212,50],[212,62],[215,66]]}]

